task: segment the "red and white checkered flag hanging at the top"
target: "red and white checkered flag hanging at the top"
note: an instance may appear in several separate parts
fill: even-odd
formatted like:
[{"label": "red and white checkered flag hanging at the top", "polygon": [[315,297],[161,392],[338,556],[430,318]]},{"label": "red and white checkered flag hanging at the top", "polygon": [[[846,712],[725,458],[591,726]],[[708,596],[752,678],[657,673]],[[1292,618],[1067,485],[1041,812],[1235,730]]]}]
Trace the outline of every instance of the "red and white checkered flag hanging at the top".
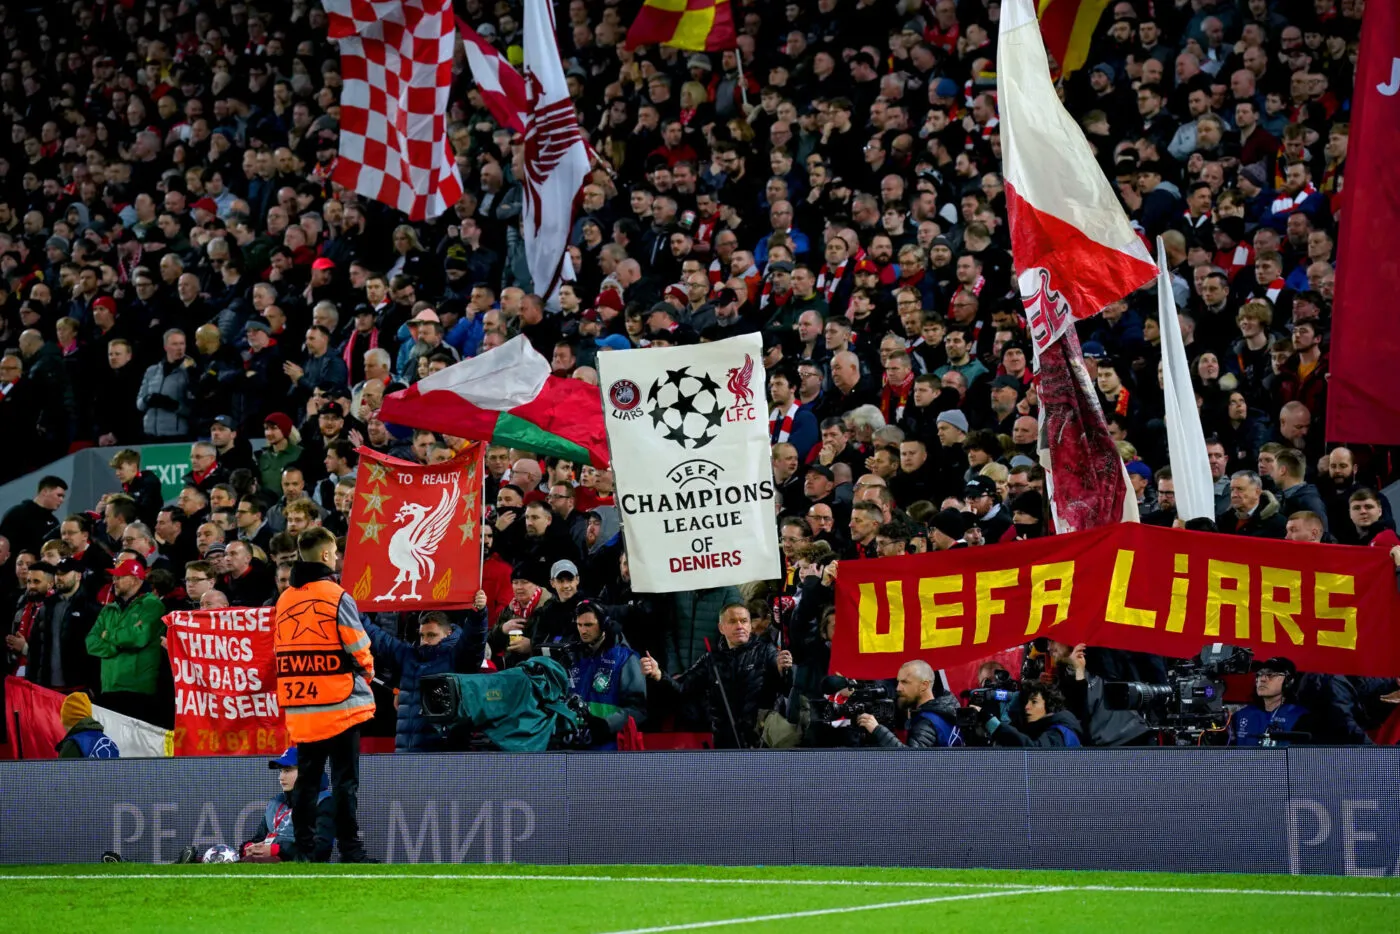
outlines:
[{"label": "red and white checkered flag hanging at the top", "polygon": [[409,216],[462,196],[447,139],[451,0],[325,0],[340,43],[340,160],[332,181]]}]

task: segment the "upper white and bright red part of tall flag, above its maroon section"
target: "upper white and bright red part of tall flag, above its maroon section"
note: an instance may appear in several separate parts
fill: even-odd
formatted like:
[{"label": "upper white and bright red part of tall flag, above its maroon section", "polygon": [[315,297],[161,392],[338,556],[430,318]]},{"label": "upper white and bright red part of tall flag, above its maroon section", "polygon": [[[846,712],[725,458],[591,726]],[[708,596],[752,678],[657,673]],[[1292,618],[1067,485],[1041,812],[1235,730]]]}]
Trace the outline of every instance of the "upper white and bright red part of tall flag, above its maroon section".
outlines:
[{"label": "upper white and bright red part of tall flag, above its maroon section", "polygon": [[1152,281],[1156,263],[1054,92],[1032,0],[1001,4],[997,59],[1011,249],[1040,356],[1074,318]]}]

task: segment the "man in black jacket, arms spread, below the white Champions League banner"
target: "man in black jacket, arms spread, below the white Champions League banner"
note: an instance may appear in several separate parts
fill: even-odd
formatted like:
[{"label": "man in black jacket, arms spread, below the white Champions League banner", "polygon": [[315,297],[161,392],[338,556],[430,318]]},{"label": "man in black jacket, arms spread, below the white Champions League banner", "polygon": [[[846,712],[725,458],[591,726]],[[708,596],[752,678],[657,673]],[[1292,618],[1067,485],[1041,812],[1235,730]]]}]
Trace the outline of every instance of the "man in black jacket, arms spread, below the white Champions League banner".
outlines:
[{"label": "man in black jacket, arms spread, below the white Champions League banner", "polygon": [[720,611],[720,646],[682,674],[668,678],[650,653],[641,660],[641,674],[703,707],[717,749],[755,749],[760,713],[774,710],[792,689],[792,653],[752,639],[743,604]]}]

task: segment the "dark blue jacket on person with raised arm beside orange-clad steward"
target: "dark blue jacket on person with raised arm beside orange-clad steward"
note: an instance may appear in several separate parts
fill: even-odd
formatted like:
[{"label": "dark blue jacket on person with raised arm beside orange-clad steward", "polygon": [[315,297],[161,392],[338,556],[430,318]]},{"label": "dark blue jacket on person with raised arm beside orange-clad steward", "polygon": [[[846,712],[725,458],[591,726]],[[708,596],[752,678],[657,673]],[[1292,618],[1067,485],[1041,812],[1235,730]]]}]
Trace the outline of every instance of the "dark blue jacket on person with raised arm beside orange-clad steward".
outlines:
[{"label": "dark blue jacket on person with raised arm beside orange-clad steward", "polygon": [[437,646],[414,646],[391,636],[367,618],[364,632],[370,636],[370,651],[393,660],[399,678],[399,723],[393,737],[395,752],[428,752],[441,749],[441,734],[423,716],[419,679],[424,675],[452,672],[476,674],[486,651],[486,613],[468,611],[463,626]]}]

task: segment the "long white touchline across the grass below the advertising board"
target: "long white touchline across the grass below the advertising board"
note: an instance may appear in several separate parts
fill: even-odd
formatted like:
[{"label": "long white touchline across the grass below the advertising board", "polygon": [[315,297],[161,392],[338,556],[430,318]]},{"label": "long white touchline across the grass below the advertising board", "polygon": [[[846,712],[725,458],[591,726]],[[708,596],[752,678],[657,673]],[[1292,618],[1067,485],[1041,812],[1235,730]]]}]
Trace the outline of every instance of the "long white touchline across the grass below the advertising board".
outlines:
[{"label": "long white touchline across the grass below the advertising board", "polygon": [[[1014,889],[1023,891],[1028,884],[1016,882],[931,882],[931,881],[890,881],[871,879],[743,879],[743,878],[704,878],[687,875],[563,875],[546,872],[80,872],[63,874],[0,874],[0,882],[66,882],[78,881],[119,881],[119,879],[174,879],[179,882],[190,879],[207,881],[249,881],[249,879],[277,879],[295,882],[297,879],[487,879],[493,882],[655,882],[662,885],[812,885],[820,888],[904,888],[904,889]],[[1163,892],[1168,895],[1291,895],[1305,898],[1400,898],[1397,892],[1326,892],[1319,889],[1225,889],[1225,888],[1186,888],[1186,886],[1152,886],[1152,885],[1061,885],[1064,892]]]}]

